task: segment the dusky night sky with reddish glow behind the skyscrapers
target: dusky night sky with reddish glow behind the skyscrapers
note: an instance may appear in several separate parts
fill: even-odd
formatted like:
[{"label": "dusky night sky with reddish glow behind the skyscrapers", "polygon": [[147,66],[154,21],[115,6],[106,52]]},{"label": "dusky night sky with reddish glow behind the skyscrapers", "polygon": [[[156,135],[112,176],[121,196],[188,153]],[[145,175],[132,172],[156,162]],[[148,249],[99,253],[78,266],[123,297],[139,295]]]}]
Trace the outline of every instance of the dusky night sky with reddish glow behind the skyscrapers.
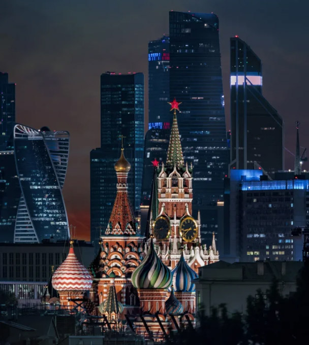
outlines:
[{"label": "dusky night sky with reddish glow behind the skyscrapers", "polygon": [[[168,34],[170,10],[219,16],[227,129],[229,38],[238,34],[262,59],[263,95],[285,120],[286,148],[295,151],[297,119],[300,144],[308,145],[305,0],[0,0],[0,71],[17,84],[16,121],[71,134],[64,197],[80,238],[89,239],[89,152],[100,146],[100,75],[143,72],[146,82],[147,44]],[[288,152],[286,168],[294,168]]]}]

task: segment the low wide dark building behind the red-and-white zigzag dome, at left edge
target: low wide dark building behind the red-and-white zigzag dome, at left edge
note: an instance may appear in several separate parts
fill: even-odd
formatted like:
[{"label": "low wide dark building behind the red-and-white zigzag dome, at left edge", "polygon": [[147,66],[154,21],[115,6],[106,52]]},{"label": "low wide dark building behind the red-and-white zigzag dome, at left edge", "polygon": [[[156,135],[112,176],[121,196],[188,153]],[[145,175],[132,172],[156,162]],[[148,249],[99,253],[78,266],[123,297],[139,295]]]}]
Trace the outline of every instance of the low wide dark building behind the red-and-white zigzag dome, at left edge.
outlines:
[{"label": "low wide dark building behind the red-and-white zigzag dome, at left edge", "polygon": [[[94,257],[89,243],[74,241],[76,256],[88,266]],[[0,290],[13,293],[18,305],[38,305],[50,284],[51,274],[67,257],[68,241],[40,244],[0,243]]]}]

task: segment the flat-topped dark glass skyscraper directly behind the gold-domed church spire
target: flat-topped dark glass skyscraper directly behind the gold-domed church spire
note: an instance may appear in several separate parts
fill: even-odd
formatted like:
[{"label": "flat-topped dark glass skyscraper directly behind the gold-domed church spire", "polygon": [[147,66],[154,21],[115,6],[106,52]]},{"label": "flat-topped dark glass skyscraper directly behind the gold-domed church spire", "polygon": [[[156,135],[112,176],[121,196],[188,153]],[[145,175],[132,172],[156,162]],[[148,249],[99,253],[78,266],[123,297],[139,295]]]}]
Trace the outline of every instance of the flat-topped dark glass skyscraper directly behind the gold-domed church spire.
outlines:
[{"label": "flat-topped dark glass skyscraper directly behind the gold-domed church spire", "polygon": [[97,244],[105,231],[116,191],[114,163],[119,158],[121,136],[131,163],[129,198],[139,210],[144,151],[144,75],[101,75],[101,148],[90,153],[90,238]]}]

